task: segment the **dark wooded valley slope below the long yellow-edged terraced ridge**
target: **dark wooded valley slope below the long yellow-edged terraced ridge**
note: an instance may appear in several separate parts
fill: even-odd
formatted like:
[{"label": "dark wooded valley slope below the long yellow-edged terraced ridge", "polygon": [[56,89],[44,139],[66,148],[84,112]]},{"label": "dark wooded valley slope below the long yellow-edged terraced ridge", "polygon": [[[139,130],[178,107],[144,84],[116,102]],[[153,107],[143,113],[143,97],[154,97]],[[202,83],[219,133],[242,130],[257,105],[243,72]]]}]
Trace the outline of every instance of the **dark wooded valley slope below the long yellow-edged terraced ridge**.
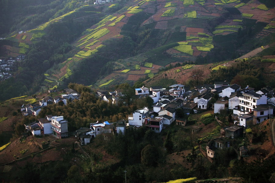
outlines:
[{"label": "dark wooded valley slope below the long yellow-edged terraced ridge", "polygon": [[0,82],[0,101],[25,94],[32,95],[39,91],[45,79],[43,73],[69,58],[70,43],[79,37],[88,25],[98,20],[99,17],[95,16],[94,19],[81,22],[67,20],[50,24],[44,30],[45,35],[31,45],[25,61],[18,65],[14,77]]}]

